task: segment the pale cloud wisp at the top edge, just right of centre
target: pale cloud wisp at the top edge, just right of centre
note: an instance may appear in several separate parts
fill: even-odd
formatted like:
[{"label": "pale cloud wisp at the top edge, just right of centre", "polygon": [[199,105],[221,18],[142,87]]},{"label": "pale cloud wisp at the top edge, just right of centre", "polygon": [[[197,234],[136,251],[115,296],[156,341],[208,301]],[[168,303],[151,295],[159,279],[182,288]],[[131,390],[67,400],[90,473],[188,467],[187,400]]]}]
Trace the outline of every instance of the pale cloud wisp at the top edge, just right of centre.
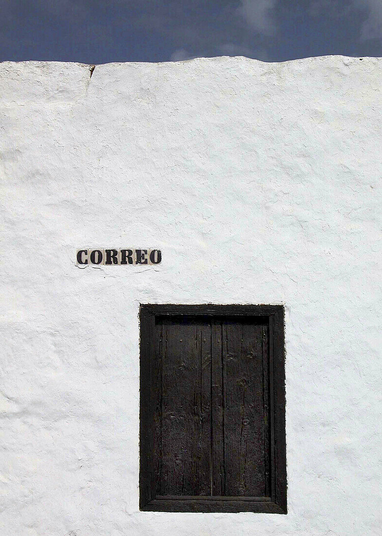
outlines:
[{"label": "pale cloud wisp at the top edge, just right of centre", "polygon": [[276,0],[241,0],[240,4],[238,13],[248,26],[264,35],[273,35],[276,32],[272,13]]}]

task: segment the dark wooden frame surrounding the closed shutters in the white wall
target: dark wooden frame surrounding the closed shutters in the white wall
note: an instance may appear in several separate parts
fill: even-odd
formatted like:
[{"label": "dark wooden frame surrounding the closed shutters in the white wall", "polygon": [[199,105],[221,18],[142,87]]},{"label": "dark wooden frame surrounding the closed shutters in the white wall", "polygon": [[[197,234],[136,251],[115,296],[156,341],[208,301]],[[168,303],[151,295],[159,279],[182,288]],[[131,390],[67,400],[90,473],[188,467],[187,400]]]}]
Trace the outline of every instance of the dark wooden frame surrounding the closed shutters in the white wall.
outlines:
[{"label": "dark wooden frame surrounding the closed shutters in the white wall", "polygon": [[[151,352],[156,316],[265,316],[269,321],[270,497],[156,497],[151,478]],[[287,513],[285,336],[283,305],[141,304],[140,306],[140,510],[162,512]]]}]

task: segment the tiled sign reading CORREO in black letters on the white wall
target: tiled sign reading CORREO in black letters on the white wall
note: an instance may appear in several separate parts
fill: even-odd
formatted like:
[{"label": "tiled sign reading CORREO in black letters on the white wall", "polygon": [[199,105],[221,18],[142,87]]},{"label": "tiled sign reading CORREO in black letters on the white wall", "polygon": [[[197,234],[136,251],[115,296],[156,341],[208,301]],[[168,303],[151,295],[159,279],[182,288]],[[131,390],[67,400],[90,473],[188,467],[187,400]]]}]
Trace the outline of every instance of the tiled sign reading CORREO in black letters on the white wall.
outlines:
[{"label": "tiled sign reading CORREO in black letters on the white wall", "polygon": [[159,264],[160,249],[78,249],[77,266],[114,266],[128,264]]}]

